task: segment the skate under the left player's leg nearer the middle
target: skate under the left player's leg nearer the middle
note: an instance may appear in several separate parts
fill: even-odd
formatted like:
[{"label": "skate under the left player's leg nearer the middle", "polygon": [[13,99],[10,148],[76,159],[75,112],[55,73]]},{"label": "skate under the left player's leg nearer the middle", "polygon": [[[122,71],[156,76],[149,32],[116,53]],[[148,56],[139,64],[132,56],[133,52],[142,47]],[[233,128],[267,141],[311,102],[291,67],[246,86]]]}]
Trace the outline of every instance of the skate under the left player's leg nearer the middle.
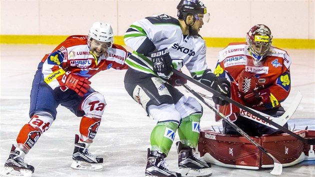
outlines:
[{"label": "skate under the left player's leg nearer the middle", "polygon": [[72,154],[73,162],[71,168],[83,170],[101,170],[103,158],[92,154],[86,147],[85,143],[78,143],[79,136],[75,134],[74,150]]}]

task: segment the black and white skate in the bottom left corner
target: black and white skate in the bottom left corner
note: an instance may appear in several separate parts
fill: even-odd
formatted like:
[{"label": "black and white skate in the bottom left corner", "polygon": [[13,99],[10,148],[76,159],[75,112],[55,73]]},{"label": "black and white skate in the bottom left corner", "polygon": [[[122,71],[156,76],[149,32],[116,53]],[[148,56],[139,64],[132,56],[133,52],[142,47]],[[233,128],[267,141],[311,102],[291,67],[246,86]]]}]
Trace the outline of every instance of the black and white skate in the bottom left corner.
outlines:
[{"label": "black and white skate in the bottom left corner", "polygon": [[20,151],[15,150],[12,145],[9,157],[4,163],[4,169],[1,176],[24,176],[30,177],[34,172],[34,167],[24,162],[23,157],[20,156]]}]

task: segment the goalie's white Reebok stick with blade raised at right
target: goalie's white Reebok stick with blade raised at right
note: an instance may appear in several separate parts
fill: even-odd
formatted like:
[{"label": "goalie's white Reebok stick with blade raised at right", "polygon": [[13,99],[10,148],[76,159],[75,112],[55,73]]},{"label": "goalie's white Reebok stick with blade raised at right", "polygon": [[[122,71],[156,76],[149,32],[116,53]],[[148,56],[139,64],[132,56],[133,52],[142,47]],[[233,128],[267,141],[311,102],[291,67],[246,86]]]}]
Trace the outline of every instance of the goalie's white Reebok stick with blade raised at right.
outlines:
[{"label": "goalie's white Reebok stick with blade raised at right", "polygon": [[[203,94],[203,93],[200,93],[200,92],[197,92],[197,93],[198,93],[200,96],[202,96],[202,97],[205,97],[205,98],[207,98],[207,99],[212,100],[212,97],[209,96],[209,95],[206,95],[206,94]],[[294,97],[294,99],[293,99],[292,103],[290,104],[290,106],[289,106],[289,107],[286,109],[286,111],[285,111],[281,116],[279,116],[279,117],[273,117],[273,116],[271,116],[271,115],[262,113],[262,112],[260,112],[260,111],[258,111],[258,110],[251,109],[251,108],[249,108],[249,107],[247,107],[247,108],[249,108],[249,109],[251,109],[252,111],[255,111],[255,112],[261,114],[262,116],[265,116],[265,117],[267,117],[268,119],[272,120],[273,122],[275,122],[275,123],[277,123],[277,124],[283,126],[283,125],[287,122],[287,120],[290,119],[290,117],[293,115],[293,113],[295,112],[296,108],[298,107],[298,104],[300,103],[301,99],[302,99],[302,94],[301,94],[300,91],[297,91],[297,94],[296,94],[296,96]],[[256,122],[261,123],[261,124],[264,124],[264,125],[269,126],[269,127],[271,127],[271,128],[277,129],[275,126],[270,125],[269,123],[267,123],[267,122],[261,120],[260,118],[257,118],[257,117],[252,116],[251,114],[248,114],[247,111],[244,110],[244,109],[240,109],[240,112],[239,112],[239,113],[240,113],[241,116],[243,116],[243,117],[245,117],[245,118],[248,118],[248,119],[250,119],[250,120],[256,121]]]}]

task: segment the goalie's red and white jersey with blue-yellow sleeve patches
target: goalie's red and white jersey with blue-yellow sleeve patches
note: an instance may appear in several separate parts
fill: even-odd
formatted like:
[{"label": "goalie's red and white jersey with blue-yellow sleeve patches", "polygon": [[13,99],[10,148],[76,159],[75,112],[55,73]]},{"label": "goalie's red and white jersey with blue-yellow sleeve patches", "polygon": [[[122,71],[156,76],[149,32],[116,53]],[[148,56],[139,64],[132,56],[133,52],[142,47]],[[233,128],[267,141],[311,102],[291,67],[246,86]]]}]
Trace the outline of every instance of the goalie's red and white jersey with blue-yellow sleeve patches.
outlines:
[{"label": "goalie's red and white jersey with blue-yellow sleeve patches", "polygon": [[280,106],[280,102],[288,96],[291,58],[285,50],[271,46],[260,66],[255,66],[245,42],[229,43],[219,52],[214,74],[226,77],[238,84],[242,70],[253,73],[259,85],[270,90],[269,101],[255,109],[266,109]]}]

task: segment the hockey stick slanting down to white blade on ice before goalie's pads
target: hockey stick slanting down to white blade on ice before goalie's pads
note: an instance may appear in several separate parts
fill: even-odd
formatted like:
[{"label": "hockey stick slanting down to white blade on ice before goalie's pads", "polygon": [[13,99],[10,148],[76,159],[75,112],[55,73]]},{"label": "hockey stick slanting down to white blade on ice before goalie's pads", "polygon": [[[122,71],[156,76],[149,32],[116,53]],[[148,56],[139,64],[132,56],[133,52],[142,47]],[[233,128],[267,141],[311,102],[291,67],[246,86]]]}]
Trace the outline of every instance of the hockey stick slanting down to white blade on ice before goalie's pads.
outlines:
[{"label": "hockey stick slanting down to white blade on ice before goalie's pads", "polygon": [[231,125],[237,132],[239,132],[242,136],[244,136],[246,139],[248,139],[252,144],[254,144],[258,149],[260,149],[263,153],[265,153],[268,157],[270,157],[273,160],[273,169],[271,170],[270,174],[274,175],[280,175],[282,173],[282,164],[269,152],[267,152],[266,149],[264,149],[260,144],[258,144],[256,141],[254,141],[248,134],[246,134],[243,130],[241,130],[237,125],[235,125],[229,118],[227,118],[223,113],[216,110],[216,108],[209,104],[206,100],[203,99],[202,96],[200,96],[198,93],[196,93],[193,89],[191,89],[186,84],[181,84],[183,87],[185,87],[188,91],[190,91],[196,98],[198,98],[200,101],[202,101],[206,106],[208,106],[211,110],[213,110],[217,115],[219,115],[226,123]]}]

